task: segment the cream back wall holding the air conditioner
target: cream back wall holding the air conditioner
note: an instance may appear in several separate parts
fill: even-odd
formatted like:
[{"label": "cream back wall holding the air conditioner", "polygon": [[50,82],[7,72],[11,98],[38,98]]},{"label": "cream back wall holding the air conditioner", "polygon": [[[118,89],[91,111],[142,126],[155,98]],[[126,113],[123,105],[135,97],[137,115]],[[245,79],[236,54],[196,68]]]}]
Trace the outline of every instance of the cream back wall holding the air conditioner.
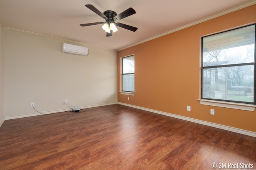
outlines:
[{"label": "cream back wall holding the air conditioner", "polygon": [[[87,57],[62,53],[62,43],[86,46]],[[117,52],[4,29],[6,119],[117,102]],[[23,117],[23,116],[22,116]]]}]

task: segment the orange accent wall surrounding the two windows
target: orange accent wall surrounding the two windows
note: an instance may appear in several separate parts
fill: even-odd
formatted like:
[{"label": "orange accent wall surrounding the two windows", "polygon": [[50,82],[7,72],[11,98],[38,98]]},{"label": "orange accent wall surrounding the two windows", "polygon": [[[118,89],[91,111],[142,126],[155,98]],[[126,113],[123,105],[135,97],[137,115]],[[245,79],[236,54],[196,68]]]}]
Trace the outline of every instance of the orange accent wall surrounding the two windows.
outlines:
[{"label": "orange accent wall surrounding the two windows", "polygon": [[[200,105],[200,37],[256,22],[256,5],[118,51],[135,54],[135,95],[118,93],[118,102],[256,132],[256,111]],[[187,111],[187,105],[191,111]],[[215,115],[210,115],[215,109]]]}]

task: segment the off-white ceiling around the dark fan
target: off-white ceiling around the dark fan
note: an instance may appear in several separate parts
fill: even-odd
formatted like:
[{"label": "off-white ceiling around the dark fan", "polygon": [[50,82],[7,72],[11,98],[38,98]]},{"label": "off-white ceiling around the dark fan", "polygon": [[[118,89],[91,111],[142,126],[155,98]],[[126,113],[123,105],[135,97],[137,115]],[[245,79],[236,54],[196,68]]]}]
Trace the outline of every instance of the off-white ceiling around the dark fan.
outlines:
[{"label": "off-white ceiling around the dark fan", "polygon": [[[117,27],[118,32],[106,37],[101,25],[81,27],[79,24],[105,22],[85,4],[117,14],[132,7],[136,14],[118,22],[138,30]],[[0,0],[0,20],[5,28],[120,50],[252,4],[256,0]]]}]

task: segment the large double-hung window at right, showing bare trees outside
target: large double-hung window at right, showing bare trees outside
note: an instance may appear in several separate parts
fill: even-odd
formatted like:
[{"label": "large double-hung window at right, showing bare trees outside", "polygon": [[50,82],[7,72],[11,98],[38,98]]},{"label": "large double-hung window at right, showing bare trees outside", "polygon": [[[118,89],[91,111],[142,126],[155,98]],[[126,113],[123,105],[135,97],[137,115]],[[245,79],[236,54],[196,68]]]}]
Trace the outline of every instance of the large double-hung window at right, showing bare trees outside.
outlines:
[{"label": "large double-hung window at right, showing bare trees outside", "polygon": [[201,98],[255,104],[255,24],[202,37]]}]

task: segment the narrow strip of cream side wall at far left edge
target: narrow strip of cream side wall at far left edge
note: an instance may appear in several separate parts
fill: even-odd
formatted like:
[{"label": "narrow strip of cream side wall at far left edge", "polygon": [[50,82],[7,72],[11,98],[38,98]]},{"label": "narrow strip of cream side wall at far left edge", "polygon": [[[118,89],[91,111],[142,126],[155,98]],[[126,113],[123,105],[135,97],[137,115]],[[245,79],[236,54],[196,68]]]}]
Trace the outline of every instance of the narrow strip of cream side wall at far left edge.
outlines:
[{"label": "narrow strip of cream side wall at far left edge", "polygon": [[4,34],[0,22],[0,126],[4,123]]}]

